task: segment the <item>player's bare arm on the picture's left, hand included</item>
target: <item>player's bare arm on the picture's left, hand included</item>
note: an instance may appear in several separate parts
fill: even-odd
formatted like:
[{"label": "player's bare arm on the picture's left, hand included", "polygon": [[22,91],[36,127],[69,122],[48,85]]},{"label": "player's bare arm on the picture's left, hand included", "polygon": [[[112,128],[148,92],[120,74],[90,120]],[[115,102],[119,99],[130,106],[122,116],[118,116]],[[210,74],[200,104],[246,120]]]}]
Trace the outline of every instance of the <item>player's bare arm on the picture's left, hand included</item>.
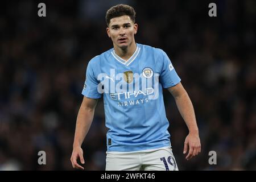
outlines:
[{"label": "player's bare arm on the picture's left, hand included", "polygon": [[84,169],[84,167],[77,163],[77,159],[80,158],[80,162],[84,164],[84,156],[81,145],[86,134],[88,133],[88,130],[90,129],[90,125],[92,124],[96,105],[96,99],[87,98],[84,96],[76,120],[76,131],[73,143],[73,152],[71,155],[71,163],[73,168]]}]

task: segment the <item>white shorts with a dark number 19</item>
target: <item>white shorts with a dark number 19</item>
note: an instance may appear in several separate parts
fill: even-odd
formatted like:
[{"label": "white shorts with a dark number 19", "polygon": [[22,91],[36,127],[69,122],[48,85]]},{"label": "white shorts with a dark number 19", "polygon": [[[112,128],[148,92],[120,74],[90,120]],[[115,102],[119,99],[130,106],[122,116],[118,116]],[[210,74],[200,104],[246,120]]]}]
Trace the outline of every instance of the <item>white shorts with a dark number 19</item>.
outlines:
[{"label": "white shorts with a dark number 19", "polygon": [[178,171],[171,147],[135,152],[106,152],[106,171]]}]

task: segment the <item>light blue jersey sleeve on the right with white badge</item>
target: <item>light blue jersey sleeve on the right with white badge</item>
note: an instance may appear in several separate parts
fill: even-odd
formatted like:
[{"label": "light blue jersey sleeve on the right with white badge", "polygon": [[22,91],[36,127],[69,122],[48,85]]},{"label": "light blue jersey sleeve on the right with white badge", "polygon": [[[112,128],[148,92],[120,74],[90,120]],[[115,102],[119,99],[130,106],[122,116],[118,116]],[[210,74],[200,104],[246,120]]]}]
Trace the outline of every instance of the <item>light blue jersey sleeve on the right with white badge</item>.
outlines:
[{"label": "light blue jersey sleeve on the right with white badge", "polygon": [[180,77],[177,75],[174,66],[171,63],[171,60],[167,56],[167,54],[162,51],[163,64],[162,71],[160,72],[159,80],[163,85],[163,88],[170,88],[171,86],[175,86],[180,82]]}]

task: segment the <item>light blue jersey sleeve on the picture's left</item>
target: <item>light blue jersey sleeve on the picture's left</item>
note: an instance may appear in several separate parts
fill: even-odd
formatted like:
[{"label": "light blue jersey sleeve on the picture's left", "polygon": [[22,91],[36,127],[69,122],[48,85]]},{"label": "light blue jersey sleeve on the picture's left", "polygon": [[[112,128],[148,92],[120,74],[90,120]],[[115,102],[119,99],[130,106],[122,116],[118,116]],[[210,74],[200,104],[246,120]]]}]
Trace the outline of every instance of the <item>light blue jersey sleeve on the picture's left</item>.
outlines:
[{"label": "light blue jersey sleeve on the picture's left", "polygon": [[101,93],[98,92],[98,80],[94,75],[94,70],[91,61],[86,69],[86,77],[82,94],[88,98],[101,98]]}]

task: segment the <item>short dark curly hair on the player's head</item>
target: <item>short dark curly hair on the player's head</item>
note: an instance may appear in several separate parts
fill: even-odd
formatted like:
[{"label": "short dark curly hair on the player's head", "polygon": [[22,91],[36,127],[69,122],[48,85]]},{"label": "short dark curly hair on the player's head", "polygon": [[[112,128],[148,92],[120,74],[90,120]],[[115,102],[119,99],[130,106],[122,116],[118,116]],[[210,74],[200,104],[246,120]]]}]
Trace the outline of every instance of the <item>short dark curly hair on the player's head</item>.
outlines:
[{"label": "short dark curly hair on the player's head", "polygon": [[110,19],[123,15],[130,16],[133,23],[135,22],[136,13],[133,7],[121,4],[110,7],[110,9],[106,12],[106,24],[109,26]]}]

